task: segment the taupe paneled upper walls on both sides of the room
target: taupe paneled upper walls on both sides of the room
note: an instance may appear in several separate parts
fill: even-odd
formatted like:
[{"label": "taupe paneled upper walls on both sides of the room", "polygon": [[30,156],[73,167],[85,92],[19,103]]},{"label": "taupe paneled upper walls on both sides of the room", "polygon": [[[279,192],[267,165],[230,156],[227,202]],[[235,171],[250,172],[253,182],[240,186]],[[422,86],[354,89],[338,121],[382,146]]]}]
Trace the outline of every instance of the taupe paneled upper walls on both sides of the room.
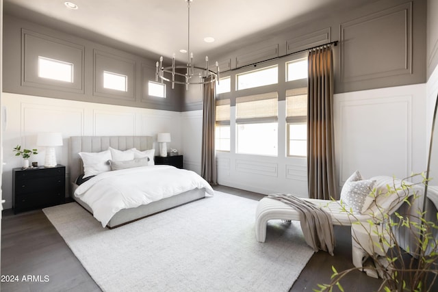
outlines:
[{"label": "taupe paneled upper walls on both sides of the room", "polygon": [[[428,10],[426,4],[429,5]],[[260,31],[240,42],[217,48],[209,53],[209,57],[212,61],[218,60],[221,71],[225,72],[339,40],[339,45],[334,48],[335,93],[425,83],[426,72],[430,76],[431,70],[438,64],[438,24],[433,18],[433,12],[438,12],[437,6],[437,1],[433,0],[382,0],[370,1],[368,5],[354,10],[302,16],[294,23],[285,23],[283,29]],[[145,94],[145,82],[154,79],[155,60],[14,16],[5,15],[3,31],[5,92],[172,111],[202,108],[202,89],[198,86],[192,86],[187,92],[184,86],[176,85],[175,90],[168,86],[166,99]],[[25,64],[22,42],[27,35],[41,36],[38,40],[42,40],[42,44],[68,44],[73,47],[81,55],[83,68],[81,79],[77,80],[82,83],[76,88],[66,89],[54,85],[41,86],[25,79],[26,70],[31,70],[31,66],[21,65]],[[100,60],[99,64],[96,59]],[[120,64],[133,74],[133,90],[119,95],[99,90],[96,70]]]}]

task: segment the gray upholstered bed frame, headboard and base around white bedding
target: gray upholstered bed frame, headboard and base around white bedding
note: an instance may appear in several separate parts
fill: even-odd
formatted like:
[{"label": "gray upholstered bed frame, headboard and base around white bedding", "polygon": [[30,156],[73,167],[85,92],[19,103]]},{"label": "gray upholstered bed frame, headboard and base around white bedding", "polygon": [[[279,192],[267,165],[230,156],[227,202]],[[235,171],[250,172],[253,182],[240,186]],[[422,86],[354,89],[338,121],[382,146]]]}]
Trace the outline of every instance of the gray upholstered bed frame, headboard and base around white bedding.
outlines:
[{"label": "gray upholstered bed frame, headboard and base around white bedding", "polygon": [[[83,187],[84,185],[87,184],[90,185],[92,184],[90,183],[91,181],[96,181],[96,180],[98,181],[99,179],[101,179],[100,177],[101,174],[96,175],[95,177],[90,179],[90,181],[87,181],[86,183],[80,186],[77,185],[76,183],[77,177],[83,174],[83,161],[79,156],[79,152],[102,152],[108,150],[108,148],[110,147],[122,151],[129,150],[131,148],[136,148],[137,150],[140,151],[150,150],[153,148],[153,137],[151,136],[73,136],[70,137],[70,149],[69,149],[70,196],[84,209],[92,213],[94,217],[96,217],[96,214],[93,212],[93,209],[92,207],[90,207],[90,205],[94,206],[95,209],[96,208],[95,204],[94,203],[90,204],[85,202],[86,199],[84,199],[83,196],[79,196],[79,197],[75,196],[75,192],[80,190],[79,187]],[[162,169],[166,168],[167,169],[166,171],[170,171],[170,172],[181,171],[183,173],[185,172],[185,174],[198,176],[197,174],[194,174],[194,172],[189,172],[188,170],[177,170],[176,168],[173,168],[172,166],[168,166],[168,165],[157,165],[156,167],[145,166],[137,169],[140,171],[143,168],[147,168],[148,170],[149,168],[156,168],[159,169],[160,171],[164,171]],[[132,172],[132,169],[116,170],[112,172],[114,173]],[[104,174],[107,175],[106,173]],[[108,174],[108,175],[112,175],[112,174]],[[199,178],[201,177],[199,176]],[[169,181],[172,181],[172,179],[169,179]],[[90,191],[92,192],[92,188],[88,190],[88,192]],[[112,215],[111,219],[107,221],[105,225],[103,224],[103,226],[107,226],[108,228],[116,228],[118,226],[122,226],[129,222],[140,220],[143,217],[153,215],[155,213],[159,213],[161,211],[165,211],[173,207],[180,206],[181,204],[186,204],[194,200],[205,198],[206,192],[207,192],[207,196],[213,194],[213,190],[208,185],[208,183],[204,185],[204,187],[202,188],[194,187],[193,189],[190,189],[188,191],[179,192],[179,194],[176,194],[175,196],[162,198],[160,200],[149,202],[148,204],[141,204],[138,207],[120,209],[120,211],[117,211],[114,215]]]}]

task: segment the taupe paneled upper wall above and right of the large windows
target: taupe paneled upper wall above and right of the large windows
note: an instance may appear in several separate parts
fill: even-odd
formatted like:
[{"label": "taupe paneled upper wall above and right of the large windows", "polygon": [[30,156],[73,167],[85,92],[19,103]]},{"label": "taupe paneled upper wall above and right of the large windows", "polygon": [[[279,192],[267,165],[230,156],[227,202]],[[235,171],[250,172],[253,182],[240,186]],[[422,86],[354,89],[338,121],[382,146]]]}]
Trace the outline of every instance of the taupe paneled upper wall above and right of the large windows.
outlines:
[{"label": "taupe paneled upper wall above and right of the large windows", "polygon": [[[438,6],[438,1],[430,2]],[[435,14],[429,18],[432,15]],[[209,53],[209,57],[218,60],[224,72],[339,40],[339,45],[334,47],[335,93],[426,82],[424,0],[370,1],[355,10],[309,15],[299,23],[285,26],[281,31],[248,36],[235,42],[233,47],[218,48]],[[438,25],[433,26],[436,52]],[[269,36],[260,37],[261,34]],[[437,54],[434,57],[438,62]],[[192,101],[185,103],[185,108],[196,107]]]}]

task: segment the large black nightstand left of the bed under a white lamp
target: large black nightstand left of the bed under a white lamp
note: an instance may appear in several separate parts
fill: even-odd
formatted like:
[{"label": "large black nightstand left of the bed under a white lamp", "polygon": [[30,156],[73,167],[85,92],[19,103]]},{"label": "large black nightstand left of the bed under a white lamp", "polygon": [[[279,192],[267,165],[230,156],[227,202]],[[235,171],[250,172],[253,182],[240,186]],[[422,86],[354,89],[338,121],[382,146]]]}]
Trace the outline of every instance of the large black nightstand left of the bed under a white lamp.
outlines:
[{"label": "large black nightstand left of the bed under a white lamp", "polygon": [[12,169],[14,213],[42,209],[65,202],[66,167]]}]

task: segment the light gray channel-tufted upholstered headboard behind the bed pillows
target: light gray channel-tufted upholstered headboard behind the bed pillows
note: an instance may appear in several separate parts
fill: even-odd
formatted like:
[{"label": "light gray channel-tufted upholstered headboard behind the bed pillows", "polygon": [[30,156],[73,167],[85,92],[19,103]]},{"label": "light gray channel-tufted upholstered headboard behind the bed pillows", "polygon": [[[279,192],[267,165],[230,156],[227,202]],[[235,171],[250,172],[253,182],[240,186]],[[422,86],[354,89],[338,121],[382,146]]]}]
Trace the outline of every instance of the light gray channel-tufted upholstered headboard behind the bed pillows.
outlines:
[{"label": "light gray channel-tufted upholstered headboard behind the bed pillows", "polygon": [[[118,150],[137,148],[149,150],[153,148],[152,136],[73,136],[70,137],[70,185],[75,182],[77,176],[83,172],[79,152],[101,152],[112,147]],[[70,189],[71,194],[71,189]]]}]

